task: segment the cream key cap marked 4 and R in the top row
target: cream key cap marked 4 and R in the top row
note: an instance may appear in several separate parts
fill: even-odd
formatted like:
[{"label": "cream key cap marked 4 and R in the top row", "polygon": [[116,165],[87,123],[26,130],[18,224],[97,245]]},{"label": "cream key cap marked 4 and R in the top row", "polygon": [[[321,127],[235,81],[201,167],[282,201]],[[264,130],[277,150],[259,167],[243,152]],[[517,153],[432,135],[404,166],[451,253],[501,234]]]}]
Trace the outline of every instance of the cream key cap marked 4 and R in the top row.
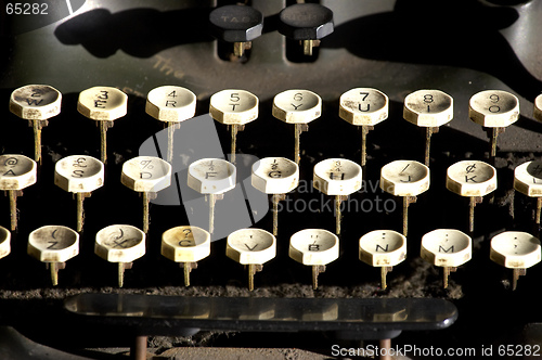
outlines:
[{"label": "cream key cap marked 4 and R in the top row", "polygon": [[146,95],[145,112],[160,121],[181,123],[194,117],[196,95],[176,86],[155,88]]}]

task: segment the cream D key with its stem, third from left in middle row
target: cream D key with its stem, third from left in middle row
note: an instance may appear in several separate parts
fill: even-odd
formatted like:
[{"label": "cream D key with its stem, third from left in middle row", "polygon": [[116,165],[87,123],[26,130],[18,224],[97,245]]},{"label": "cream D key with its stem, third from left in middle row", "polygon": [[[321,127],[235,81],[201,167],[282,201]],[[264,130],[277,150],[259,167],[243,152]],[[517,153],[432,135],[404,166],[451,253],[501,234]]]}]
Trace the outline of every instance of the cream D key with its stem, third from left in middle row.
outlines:
[{"label": "cream D key with its stem, third from left in middle row", "polygon": [[122,164],[120,182],[143,194],[143,232],[149,232],[149,203],[171,184],[171,165],[155,156],[138,156]]}]

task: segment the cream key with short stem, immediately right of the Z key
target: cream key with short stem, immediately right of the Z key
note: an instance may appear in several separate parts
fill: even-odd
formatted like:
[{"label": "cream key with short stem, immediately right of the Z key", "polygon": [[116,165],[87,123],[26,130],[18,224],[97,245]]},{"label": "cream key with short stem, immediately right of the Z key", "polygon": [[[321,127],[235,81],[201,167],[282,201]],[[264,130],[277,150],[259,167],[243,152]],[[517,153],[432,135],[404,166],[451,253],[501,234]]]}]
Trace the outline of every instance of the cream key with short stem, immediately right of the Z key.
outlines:
[{"label": "cream key with short stem, immediately right of the Z key", "polygon": [[124,286],[125,270],[145,255],[145,233],[128,224],[113,224],[96,233],[94,253],[109,262],[118,262],[118,286]]}]

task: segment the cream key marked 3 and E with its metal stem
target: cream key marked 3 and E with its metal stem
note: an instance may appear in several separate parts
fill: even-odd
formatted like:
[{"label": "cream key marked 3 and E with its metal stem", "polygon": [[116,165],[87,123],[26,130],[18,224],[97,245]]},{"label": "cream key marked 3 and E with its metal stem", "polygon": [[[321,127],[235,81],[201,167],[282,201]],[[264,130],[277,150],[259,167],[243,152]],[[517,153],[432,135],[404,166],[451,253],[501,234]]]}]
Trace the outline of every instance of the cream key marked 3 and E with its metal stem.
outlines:
[{"label": "cream key marked 3 and E with its metal stem", "polygon": [[127,113],[128,95],[116,88],[94,87],[79,93],[77,111],[96,120],[100,127],[100,159],[107,162],[106,133],[113,127],[113,121],[122,117]]}]

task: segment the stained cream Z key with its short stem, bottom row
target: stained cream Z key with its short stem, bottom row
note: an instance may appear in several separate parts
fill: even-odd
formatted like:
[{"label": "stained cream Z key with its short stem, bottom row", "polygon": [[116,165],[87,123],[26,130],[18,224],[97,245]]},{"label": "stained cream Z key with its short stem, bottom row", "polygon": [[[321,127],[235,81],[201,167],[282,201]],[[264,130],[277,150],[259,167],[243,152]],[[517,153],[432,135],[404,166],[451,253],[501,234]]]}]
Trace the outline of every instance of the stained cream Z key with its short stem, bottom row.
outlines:
[{"label": "stained cream Z key with its short stem, bottom row", "polygon": [[28,235],[28,255],[46,262],[53,286],[59,284],[59,269],[79,254],[79,234],[63,226],[46,226]]}]

